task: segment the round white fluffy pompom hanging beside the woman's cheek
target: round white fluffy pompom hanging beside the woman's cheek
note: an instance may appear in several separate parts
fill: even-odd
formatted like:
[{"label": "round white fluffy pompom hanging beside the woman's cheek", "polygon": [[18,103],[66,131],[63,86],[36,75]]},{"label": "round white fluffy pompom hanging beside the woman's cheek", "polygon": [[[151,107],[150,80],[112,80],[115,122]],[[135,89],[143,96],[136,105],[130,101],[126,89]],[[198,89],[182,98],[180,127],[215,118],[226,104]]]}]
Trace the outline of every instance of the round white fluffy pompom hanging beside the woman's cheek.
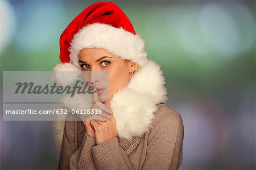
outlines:
[{"label": "round white fluffy pompom hanging beside the woman's cheek", "polygon": [[52,71],[52,81],[60,86],[67,86],[75,80],[79,80],[80,69],[73,63],[57,63]]}]

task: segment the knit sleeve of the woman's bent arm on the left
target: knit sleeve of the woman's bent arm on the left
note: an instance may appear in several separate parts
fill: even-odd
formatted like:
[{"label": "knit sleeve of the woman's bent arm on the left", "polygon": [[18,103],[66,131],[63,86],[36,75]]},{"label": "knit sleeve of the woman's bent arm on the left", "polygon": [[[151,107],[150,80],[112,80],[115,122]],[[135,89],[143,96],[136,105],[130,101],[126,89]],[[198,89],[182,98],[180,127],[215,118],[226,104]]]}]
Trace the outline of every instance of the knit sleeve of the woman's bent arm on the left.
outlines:
[{"label": "knit sleeve of the woman's bent arm on the left", "polygon": [[76,150],[76,130],[75,121],[65,121],[58,169],[93,168],[91,149],[95,145],[95,140],[85,133],[82,145]]}]

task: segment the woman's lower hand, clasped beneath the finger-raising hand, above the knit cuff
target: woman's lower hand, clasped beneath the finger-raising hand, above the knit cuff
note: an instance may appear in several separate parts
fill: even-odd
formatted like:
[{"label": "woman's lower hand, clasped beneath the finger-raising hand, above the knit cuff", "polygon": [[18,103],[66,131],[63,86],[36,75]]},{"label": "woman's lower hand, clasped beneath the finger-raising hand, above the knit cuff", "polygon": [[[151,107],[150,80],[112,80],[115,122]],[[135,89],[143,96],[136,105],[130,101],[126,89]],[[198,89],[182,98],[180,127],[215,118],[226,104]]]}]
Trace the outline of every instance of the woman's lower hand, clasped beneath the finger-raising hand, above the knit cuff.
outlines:
[{"label": "woman's lower hand, clasped beneath the finger-raising hand, above the knit cuff", "polygon": [[95,130],[96,145],[117,137],[117,129],[115,128],[115,118],[113,114],[109,115],[108,121],[91,121],[90,125]]}]

